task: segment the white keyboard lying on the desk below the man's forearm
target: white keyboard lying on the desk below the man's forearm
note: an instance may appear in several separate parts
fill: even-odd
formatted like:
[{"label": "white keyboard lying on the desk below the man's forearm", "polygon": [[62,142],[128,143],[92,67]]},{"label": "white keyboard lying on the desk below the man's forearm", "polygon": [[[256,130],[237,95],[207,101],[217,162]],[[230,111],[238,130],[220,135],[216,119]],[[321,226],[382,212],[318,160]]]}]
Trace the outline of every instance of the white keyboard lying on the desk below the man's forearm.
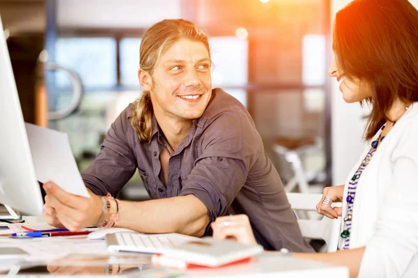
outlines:
[{"label": "white keyboard lying on the desk below the man's forearm", "polygon": [[177,245],[189,241],[200,240],[193,236],[182,234],[134,234],[114,233],[106,235],[107,250],[109,252],[141,252],[164,254]]}]

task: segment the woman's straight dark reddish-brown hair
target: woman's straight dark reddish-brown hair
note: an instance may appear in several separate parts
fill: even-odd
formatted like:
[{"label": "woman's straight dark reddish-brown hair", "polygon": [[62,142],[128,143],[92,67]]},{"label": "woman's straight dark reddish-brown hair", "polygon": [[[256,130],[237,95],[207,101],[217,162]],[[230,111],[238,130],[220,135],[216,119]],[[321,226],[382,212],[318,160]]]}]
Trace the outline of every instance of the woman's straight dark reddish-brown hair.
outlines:
[{"label": "woman's straight dark reddish-brown hair", "polygon": [[418,101],[418,11],[408,0],[349,3],[336,13],[333,48],[342,74],[371,84],[366,140],[397,97]]}]

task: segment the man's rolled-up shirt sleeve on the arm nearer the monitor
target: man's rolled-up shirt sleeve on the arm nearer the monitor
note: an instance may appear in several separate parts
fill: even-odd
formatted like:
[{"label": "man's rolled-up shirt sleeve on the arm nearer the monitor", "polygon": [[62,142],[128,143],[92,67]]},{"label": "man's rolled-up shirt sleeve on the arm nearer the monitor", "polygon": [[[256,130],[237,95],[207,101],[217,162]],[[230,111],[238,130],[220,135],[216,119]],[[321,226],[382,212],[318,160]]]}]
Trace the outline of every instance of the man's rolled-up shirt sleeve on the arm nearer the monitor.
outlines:
[{"label": "man's rolled-up shirt sleeve on the arm nearer the monitor", "polygon": [[96,195],[111,193],[116,197],[130,180],[137,168],[137,161],[127,142],[129,109],[118,116],[100,147],[100,152],[91,165],[83,172],[86,187]]}]

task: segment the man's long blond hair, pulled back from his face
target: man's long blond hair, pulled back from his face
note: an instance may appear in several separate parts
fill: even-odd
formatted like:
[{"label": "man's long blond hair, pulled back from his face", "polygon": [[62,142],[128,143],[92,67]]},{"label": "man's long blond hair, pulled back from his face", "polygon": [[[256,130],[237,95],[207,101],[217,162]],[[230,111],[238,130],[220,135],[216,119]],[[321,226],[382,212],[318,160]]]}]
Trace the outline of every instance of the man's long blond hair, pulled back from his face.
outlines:
[{"label": "man's long blond hair, pulled back from his face", "polygon": [[[184,19],[164,19],[146,31],[139,49],[139,67],[153,75],[157,60],[180,39],[202,42],[209,50],[208,36],[201,28]],[[152,137],[153,104],[150,92],[143,92],[132,104],[130,122],[137,129],[139,140],[149,142]]]}]

